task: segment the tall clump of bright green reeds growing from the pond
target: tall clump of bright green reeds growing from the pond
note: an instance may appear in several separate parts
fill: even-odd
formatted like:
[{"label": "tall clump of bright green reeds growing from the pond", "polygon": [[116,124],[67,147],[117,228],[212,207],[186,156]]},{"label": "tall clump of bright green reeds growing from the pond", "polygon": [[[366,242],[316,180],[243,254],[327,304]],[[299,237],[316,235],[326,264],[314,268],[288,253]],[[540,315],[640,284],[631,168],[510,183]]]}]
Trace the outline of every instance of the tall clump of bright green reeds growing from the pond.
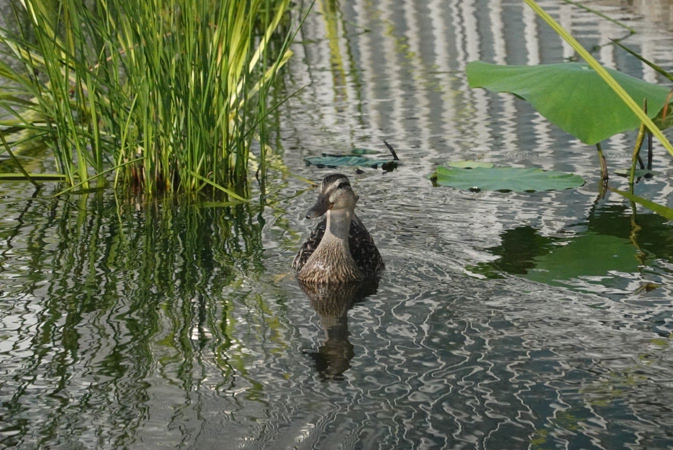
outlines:
[{"label": "tall clump of bright green reeds growing from the pond", "polygon": [[252,139],[291,55],[288,9],[289,0],[13,3],[0,29],[5,150],[46,141],[71,187],[101,185],[106,172],[149,192],[240,183],[251,160],[264,162]]}]

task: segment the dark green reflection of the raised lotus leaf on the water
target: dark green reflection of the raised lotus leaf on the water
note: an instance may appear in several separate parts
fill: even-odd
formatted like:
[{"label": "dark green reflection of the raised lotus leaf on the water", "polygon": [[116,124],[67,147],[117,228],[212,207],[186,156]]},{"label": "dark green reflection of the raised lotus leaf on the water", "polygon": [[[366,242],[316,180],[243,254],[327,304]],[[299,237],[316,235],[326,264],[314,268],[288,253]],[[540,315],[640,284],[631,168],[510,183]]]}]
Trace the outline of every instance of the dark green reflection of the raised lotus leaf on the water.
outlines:
[{"label": "dark green reflection of the raised lotus leaf on the water", "polygon": [[[566,236],[543,236],[528,225],[505,230],[501,243],[486,249],[497,259],[470,270],[488,278],[520,275],[583,292],[628,293],[624,278],[612,274],[643,274],[657,260],[673,262],[668,221],[657,214],[635,214],[628,205],[594,207],[586,220],[564,232]],[[641,284],[647,284],[647,277]]]}]

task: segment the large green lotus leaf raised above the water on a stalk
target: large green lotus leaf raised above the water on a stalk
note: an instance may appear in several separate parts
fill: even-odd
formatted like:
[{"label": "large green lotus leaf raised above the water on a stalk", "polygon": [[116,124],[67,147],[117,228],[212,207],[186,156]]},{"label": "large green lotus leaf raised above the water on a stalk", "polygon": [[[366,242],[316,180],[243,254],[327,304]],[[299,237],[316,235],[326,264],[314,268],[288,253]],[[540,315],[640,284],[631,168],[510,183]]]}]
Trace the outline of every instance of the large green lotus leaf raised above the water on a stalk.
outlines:
[{"label": "large green lotus leaf raised above the water on a stalk", "polygon": [[[606,69],[639,105],[647,99],[647,115],[656,117],[669,89],[625,73]],[[638,117],[603,79],[583,63],[494,65],[468,63],[470,88],[509,92],[528,101],[548,121],[587,144],[637,129]]]}]

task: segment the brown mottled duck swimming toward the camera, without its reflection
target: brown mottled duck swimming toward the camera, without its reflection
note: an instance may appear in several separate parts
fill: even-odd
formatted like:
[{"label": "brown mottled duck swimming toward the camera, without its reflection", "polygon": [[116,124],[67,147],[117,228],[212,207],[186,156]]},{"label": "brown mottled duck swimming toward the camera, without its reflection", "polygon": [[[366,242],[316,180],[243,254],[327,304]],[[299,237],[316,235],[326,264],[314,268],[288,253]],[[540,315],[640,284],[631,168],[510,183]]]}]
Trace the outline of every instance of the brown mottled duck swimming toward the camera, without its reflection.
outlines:
[{"label": "brown mottled duck swimming toward the camera, without its reflection", "polygon": [[355,214],[359,197],[344,174],[322,179],[320,195],[307,219],[326,216],[292,262],[305,283],[336,284],[378,276],[385,268],[374,240]]}]

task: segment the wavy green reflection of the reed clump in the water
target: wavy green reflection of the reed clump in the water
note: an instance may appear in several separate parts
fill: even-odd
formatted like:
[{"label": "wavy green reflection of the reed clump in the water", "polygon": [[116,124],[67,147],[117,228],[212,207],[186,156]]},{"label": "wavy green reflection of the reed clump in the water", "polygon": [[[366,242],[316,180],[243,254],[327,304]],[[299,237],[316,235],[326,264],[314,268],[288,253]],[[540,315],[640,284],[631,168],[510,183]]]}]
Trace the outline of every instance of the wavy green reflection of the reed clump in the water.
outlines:
[{"label": "wavy green reflection of the reed clump in the water", "polygon": [[32,338],[17,356],[15,406],[4,420],[44,414],[3,445],[52,442],[73,426],[123,447],[156,401],[157,378],[184,393],[168,405],[175,410],[189,408],[203,383],[224,392],[236,381],[263,401],[249,370],[265,357],[259,346],[285,342],[274,304],[254,286],[264,274],[260,207],[185,203],[117,204],[102,193],[53,209],[26,202],[24,225],[3,232],[15,243],[3,253],[15,261],[5,262],[30,268],[13,274],[13,289],[32,293],[38,311],[12,331]]}]

